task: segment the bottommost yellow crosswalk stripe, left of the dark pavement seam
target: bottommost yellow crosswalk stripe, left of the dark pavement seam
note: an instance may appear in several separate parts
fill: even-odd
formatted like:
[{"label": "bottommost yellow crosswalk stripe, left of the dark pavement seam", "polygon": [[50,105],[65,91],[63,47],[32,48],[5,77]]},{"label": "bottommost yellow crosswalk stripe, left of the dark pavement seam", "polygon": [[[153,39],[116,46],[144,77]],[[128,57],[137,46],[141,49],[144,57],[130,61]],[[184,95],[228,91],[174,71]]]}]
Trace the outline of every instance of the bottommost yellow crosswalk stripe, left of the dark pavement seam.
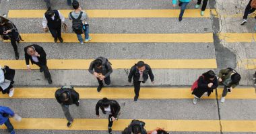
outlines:
[{"label": "bottommost yellow crosswalk stripe, left of the dark pavement seam", "polygon": [[[122,113],[121,113],[122,114]],[[163,127],[166,131],[207,131],[219,132],[220,125],[218,120],[158,120],[142,119],[145,121],[146,129],[153,130],[156,127]],[[114,122],[114,131],[123,131],[129,125],[131,119],[119,119]],[[24,118],[17,123],[11,119],[15,129],[46,129],[46,130],[94,130],[106,131],[108,129],[107,119],[75,119],[72,126],[66,126],[66,119],[34,119]],[[203,126],[203,127],[198,127]],[[0,129],[4,129],[1,126]]]}]

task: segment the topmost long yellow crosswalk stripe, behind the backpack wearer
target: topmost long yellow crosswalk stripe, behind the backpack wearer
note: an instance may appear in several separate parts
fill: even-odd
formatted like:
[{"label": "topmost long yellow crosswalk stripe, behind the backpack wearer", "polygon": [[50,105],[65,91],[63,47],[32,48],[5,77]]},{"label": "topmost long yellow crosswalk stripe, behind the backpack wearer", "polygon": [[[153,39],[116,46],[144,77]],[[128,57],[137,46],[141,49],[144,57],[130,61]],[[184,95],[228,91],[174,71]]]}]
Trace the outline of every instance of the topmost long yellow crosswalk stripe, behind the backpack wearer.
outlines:
[{"label": "topmost long yellow crosswalk stripe, behind the backpack wearer", "polygon": [[[46,10],[9,10],[9,18],[42,18]],[[60,10],[61,13],[68,17],[72,10]],[[89,17],[179,17],[180,9],[94,9],[86,10]],[[216,13],[212,10],[212,13]],[[205,9],[205,15],[200,15],[199,9],[186,9],[183,17],[210,17],[210,9]]]}]

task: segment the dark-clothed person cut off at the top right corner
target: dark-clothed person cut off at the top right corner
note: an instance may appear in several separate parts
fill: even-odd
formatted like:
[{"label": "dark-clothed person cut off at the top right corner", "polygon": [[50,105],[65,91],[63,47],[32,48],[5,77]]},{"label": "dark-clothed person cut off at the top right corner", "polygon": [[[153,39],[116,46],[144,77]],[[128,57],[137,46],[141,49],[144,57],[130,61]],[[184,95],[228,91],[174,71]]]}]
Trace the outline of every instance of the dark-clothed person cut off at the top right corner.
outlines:
[{"label": "dark-clothed person cut off at the top right corner", "polygon": [[253,13],[256,9],[256,0],[249,0],[249,3],[247,4],[246,8],[245,8],[245,13],[243,16],[243,21],[241,23],[241,25],[245,25],[245,23],[247,23],[247,17],[248,15],[251,15],[251,13]]}]

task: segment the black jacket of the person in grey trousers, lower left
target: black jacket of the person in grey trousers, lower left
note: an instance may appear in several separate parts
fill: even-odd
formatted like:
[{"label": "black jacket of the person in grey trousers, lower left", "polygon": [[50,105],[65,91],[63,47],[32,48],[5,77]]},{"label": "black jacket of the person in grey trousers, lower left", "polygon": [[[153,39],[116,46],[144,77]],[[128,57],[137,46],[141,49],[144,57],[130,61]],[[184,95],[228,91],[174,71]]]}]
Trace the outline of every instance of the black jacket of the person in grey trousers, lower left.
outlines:
[{"label": "black jacket of the person in grey trousers, lower left", "polygon": [[[69,100],[64,101],[64,102],[61,101],[61,94],[63,92],[67,92],[67,94],[69,94]],[[57,99],[58,103],[60,103],[62,105],[73,105],[73,104],[77,103],[77,101],[79,100],[79,94],[72,88],[60,88],[60,89],[56,90],[55,98]]]}]

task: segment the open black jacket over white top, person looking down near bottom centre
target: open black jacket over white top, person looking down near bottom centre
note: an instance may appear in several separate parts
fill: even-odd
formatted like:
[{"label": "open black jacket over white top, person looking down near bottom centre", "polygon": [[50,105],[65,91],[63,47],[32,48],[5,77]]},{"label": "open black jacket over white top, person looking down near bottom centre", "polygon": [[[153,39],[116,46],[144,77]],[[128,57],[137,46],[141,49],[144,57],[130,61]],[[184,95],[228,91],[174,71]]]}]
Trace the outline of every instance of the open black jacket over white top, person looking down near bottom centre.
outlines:
[{"label": "open black jacket over white top, person looking down near bottom centre", "polygon": [[[120,105],[117,103],[116,100],[108,100],[108,103],[110,104],[110,109],[113,117],[117,118],[117,115],[119,115],[120,112]],[[96,115],[99,115],[99,108],[101,109],[102,113],[106,114],[104,107],[102,106],[102,100],[98,100],[98,103],[96,104]]]}]

